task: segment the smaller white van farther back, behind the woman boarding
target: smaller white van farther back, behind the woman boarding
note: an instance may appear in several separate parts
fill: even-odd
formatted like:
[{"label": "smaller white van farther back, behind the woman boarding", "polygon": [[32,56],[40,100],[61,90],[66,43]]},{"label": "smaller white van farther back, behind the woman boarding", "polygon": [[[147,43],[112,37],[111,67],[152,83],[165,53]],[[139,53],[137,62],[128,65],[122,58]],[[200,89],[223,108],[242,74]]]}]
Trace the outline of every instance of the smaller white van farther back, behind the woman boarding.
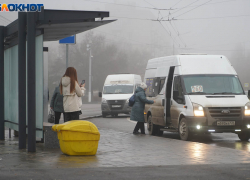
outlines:
[{"label": "smaller white van farther back, behind the woman boarding", "polygon": [[108,75],[102,92],[102,116],[118,116],[119,113],[129,114],[129,98],[141,84],[141,76],[136,74]]}]

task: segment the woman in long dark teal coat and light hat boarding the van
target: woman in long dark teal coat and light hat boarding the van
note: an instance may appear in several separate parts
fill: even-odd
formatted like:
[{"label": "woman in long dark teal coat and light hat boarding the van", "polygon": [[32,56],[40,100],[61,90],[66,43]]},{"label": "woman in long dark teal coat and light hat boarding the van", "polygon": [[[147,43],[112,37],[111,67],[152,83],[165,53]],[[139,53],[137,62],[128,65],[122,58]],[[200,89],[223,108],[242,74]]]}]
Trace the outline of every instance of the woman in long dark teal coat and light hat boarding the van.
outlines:
[{"label": "woman in long dark teal coat and light hat boarding the van", "polygon": [[146,98],[145,90],[147,85],[141,83],[140,87],[135,90],[135,104],[132,107],[130,119],[137,121],[133,134],[139,134],[138,130],[141,130],[141,134],[145,134],[144,128],[144,109],[145,104],[153,104],[154,101],[148,100]]}]

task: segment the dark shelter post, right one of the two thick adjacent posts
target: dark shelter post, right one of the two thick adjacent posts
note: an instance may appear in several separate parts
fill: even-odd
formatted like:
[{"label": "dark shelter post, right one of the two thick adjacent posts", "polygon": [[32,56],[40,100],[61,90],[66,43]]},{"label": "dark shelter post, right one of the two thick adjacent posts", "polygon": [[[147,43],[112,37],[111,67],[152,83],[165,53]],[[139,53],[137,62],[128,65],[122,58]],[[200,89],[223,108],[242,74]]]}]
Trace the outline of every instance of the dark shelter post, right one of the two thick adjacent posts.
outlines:
[{"label": "dark shelter post, right one of the two thick adjacent posts", "polygon": [[28,63],[28,152],[36,151],[36,24],[35,13],[27,13]]}]

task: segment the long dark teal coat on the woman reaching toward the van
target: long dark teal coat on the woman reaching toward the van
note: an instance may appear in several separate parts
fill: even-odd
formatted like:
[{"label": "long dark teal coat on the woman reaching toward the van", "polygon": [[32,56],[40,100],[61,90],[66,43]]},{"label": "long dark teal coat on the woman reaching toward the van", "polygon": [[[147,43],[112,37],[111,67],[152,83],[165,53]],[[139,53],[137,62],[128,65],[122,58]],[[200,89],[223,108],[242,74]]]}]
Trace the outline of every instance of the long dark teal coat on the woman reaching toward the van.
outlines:
[{"label": "long dark teal coat on the woman reaching toward the van", "polygon": [[148,100],[144,89],[138,87],[135,90],[135,104],[132,107],[130,119],[133,121],[144,122],[145,104],[153,104],[154,101]]}]

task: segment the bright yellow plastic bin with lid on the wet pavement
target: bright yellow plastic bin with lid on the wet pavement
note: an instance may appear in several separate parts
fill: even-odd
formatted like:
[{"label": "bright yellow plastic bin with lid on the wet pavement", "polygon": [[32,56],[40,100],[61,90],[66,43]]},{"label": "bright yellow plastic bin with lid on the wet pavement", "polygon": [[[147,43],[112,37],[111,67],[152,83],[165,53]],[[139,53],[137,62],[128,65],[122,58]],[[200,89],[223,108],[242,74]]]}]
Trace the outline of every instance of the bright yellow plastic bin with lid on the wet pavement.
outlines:
[{"label": "bright yellow plastic bin with lid on the wet pavement", "polygon": [[100,133],[97,127],[82,120],[68,121],[52,126],[57,132],[61,151],[67,155],[95,155]]}]

